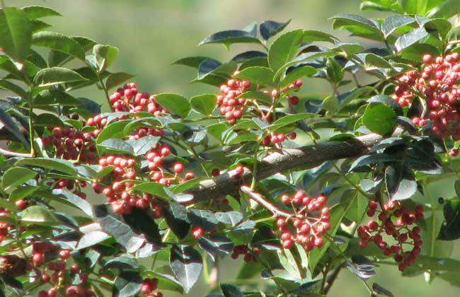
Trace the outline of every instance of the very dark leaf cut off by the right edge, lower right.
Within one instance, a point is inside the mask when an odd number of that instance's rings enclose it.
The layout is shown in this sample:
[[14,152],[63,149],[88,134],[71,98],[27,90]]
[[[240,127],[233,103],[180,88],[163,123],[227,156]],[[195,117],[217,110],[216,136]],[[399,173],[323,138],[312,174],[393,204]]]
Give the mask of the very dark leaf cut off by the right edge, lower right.
[[450,199],[444,204],[444,223],[437,239],[456,240],[460,238],[460,200]]

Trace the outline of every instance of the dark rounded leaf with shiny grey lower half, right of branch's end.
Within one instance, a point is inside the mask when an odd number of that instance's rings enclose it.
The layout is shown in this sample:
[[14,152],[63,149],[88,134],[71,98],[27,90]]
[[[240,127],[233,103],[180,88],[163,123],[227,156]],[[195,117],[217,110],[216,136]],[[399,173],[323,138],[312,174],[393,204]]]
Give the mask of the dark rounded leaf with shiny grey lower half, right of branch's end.
[[389,165],[385,170],[386,192],[393,200],[408,199],[417,191],[412,171],[402,164]]

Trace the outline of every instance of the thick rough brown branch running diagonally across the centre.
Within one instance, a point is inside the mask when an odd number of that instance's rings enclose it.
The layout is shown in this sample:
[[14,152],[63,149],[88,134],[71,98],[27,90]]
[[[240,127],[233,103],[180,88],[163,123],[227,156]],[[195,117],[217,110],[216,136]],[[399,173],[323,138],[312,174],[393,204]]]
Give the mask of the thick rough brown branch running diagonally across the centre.
[[[401,130],[397,129],[395,134],[399,133]],[[285,170],[314,168],[326,161],[356,158],[366,153],[369,146],[381,139],[382,136],[378,134],[369,134],[346,141],[328,141],[301,148],[285,148],[263,158],[258,165],[256,179],[262,180]],[[241,185],[251,181],[252,177],[251,171],[245,170],[238,178],[230,171],[215,177],[214,180],[206,180],[200,187],[187,191],[193,195],[192,201],[188,204],[225,197],[228,194],[237,195]]]

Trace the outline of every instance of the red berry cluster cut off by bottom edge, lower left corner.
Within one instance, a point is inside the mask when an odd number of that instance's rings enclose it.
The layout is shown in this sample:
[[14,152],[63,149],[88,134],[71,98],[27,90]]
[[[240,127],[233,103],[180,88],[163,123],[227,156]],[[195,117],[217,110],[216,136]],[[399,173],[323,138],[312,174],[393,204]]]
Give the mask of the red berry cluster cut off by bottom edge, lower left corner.
[[[52,243],[33,243],[30,262],[38,275],[35,281],[51,285],[47,291],[40,291],[39,297],[55,297],[58,291],[64,291],[66,296],[95,296],[88,284],[88,274],[80,269],[79,264],[74,263],[67,267],[70,256],[70,250],[60,249]],[[79,281],[76,282],[76,279]]]

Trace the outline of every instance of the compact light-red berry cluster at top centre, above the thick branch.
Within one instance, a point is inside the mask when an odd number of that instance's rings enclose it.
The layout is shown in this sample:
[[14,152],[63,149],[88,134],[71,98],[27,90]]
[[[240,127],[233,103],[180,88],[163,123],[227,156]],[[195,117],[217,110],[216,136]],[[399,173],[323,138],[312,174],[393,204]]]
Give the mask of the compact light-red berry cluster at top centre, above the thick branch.
[[[236,74],[238,71],[234,73],[234,75]],[[224,115],[229,124],[235,124],[236,120],[243,115],[246,99],[237,97],[250,86],[249,81],[241,81],[237,78],[230,78],[226,84],[220,86],[221,93],[217,95],[217,105],[220,107],[220,114]]]

